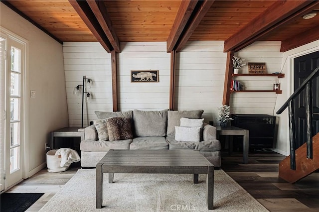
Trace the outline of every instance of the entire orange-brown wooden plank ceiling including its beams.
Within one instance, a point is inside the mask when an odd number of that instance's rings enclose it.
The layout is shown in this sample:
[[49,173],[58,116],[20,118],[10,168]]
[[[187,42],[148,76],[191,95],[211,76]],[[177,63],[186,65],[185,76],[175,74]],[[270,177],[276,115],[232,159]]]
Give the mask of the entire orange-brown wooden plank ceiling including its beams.
[[225,51],[254,41],[283,41],[282,51],[319,39],[319,1],[312,0],[9,0],[2,1],[57,40],[166,41],[167,51],[187,40],[224,40]]

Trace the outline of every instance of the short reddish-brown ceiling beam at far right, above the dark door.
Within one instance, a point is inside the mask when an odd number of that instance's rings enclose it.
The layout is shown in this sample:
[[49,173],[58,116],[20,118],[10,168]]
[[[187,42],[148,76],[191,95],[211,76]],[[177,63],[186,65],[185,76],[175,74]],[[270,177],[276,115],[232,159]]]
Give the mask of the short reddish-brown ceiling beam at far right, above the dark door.
[[319,26],[283,40],[280,52],[286,52],[316,40],[319,40]]

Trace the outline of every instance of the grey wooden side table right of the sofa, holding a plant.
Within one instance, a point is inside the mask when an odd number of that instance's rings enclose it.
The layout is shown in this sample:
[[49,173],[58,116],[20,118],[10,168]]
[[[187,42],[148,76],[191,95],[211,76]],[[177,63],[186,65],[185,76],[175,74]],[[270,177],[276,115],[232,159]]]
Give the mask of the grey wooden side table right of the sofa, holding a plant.
[[[243,159],[244,163],[248,163],[249,152],[249,130],[239,128],[236,126],[221,127],[220,125],[214,125],[217,128],[217,136],[219,135],[242,135],[243,136]],[[232,148],[232,140],[230,141],[230,150]]]

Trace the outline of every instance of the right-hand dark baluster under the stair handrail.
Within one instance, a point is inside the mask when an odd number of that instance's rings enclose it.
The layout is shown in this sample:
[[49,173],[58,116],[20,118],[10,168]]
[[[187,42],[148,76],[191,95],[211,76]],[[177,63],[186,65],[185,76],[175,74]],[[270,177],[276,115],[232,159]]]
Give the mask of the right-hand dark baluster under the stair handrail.
[[306,130],[307,130],[307,158],[313,159],[313,83],[309,81],[306,86]]

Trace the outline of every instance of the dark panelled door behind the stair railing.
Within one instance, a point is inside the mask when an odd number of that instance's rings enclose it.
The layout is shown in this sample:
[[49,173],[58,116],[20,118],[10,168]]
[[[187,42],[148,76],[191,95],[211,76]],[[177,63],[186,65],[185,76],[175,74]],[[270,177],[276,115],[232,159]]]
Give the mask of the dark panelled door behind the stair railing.
[[[294,67],[294,89],[295,91],[304,80],[319,66],[319,51],[295,58]],[[313,112],[314,112],[314,134],[319,132],[319,77],[313,80]],[[296,147],[306,142],[306,108],[305,91],[295,99],[295,120],[296,120]]]

